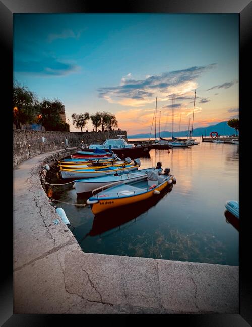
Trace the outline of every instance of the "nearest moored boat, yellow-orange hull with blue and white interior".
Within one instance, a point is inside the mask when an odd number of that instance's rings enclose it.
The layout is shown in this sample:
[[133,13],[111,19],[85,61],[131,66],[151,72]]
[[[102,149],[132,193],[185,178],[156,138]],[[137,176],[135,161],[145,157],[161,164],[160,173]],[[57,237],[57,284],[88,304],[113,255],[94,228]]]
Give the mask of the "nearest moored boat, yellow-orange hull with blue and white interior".
[[[120,184],[105,190],[105,187],[93,190],[93,196],[87,200],[87,204],[90,204],[92,212],[97,215],[108,209],[147,200],[176,181],[173,175],[160,174],[156,178],[150,179],[147,176],[142,181]],[[99,193],[95,195],[96,192]]]

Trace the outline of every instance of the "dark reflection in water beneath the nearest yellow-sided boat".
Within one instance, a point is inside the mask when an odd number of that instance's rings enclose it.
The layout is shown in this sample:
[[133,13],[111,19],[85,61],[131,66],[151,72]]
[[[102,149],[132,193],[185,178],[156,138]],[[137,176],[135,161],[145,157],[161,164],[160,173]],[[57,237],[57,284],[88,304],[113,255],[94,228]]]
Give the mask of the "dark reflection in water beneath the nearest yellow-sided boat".
[[148,199],[148,201],[141,201],[140,203],[134,203],[127,206],[122,206],[120,208],[106,210],[105,213],[94,216],[92,229],[84,238],[87,236],[101,235],[116,227],[118,227],[118,230],[120,230],[121,225],[124,225],[133,219],[136,221],[137,217],[148,211],[151,207],[155,206],[161,200],[161,198],[169,193],[172,190],[172,187],[172,184],[169,185],[169,187],[162,190],[160,194]]

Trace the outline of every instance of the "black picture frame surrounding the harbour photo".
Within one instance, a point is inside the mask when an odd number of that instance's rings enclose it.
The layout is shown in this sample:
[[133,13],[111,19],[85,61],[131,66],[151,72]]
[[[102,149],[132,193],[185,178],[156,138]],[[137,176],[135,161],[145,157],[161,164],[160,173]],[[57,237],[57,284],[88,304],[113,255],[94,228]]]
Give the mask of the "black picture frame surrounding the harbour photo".
[[[99,10],[97,10],[99,8]],[[244,144],[249,137],[245,122],[249,107],[248,99],[251,94],[251,84],[247,83],[246,75],[251,60],[251,17],[252,3],[250,0],[141,0],[123,1],[117,4],[101,2],[96,4],[90,0],[1,0],[1,41],[3,56],[2,79],[3,94],[6,108],[12,107],[12,19],[14,13],[238,13],[240,15],[240,181],[245,170],[248,170]],[[251,104],[250,104],[251,107]],[[12,120],[10,119],[10,124]],[[11,129],[10,129],[11,130]],[[10,131],[8,129],[7,135]],[[8,136],[10,140],[11,136]],[[243,152],[244,151],[244,152]],[[243,154],[244,153],[244,154]],[[244,161],[243,161],[244,160]],[[242,173],[243,172],[243,173]],[[12,174],[12,173],[10,173]],[[244,176],[244,175],[243,175]],[[251,175],[250,175],[251,176]],[[241,184],[240,184],[241,189]],[[240,197],[241,217],[250,217],[245,213],[246,203],[249,203],[248,195],[242,193]],[[251,301],[251,273],[249,270],[249,219],[240,220],[240,314],[238,315],[169,315],[176,323],[185,320],[186,325],[192,326],[248,326],[252,324],[252,301]],[[7,227],[8,241],[5,241],[3,261],[5,263],[4,276],[1,280],[1,313],[0,322],[4,326],[45,326],[59,322],[58,315],[14,315],[12,314],[12,225]],[[73,319],[73,316],[64,316],[64,320]],[[81,319],[76,315],[75,319]],[[70,320],[69,320],[70,321]],[[85,320],[84,320],[85,321]]]

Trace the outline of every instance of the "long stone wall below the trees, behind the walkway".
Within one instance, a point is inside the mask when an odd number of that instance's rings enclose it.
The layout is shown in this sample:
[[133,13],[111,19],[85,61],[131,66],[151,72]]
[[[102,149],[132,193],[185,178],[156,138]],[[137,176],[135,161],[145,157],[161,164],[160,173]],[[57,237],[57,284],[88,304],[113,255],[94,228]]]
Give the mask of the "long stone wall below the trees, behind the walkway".
[[124,135],[124,139],[127,140],[127,132],[120,130],[81,133],[13,129],[13,167],[41,153],[81,146],[81,144],[103,143],[108,138],[118,138],[118,135]]

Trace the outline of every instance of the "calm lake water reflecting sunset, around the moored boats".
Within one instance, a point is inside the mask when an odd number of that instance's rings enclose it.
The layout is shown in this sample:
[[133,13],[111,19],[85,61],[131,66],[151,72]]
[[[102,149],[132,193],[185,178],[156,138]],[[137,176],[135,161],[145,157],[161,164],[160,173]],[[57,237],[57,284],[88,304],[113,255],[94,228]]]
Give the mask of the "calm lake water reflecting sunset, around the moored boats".
[[[239,265],[239,232],[224,214],[227,200],[239,201],[239,145],[203,142],[169,152],[152,149],[150,158],[141,158],[140,169],[161,161],[177,179],[147,203],[100,217],[89,206],[54,204],[65,210],[85,252]],[[77,198],[72,184],[51,187],[48,196],[79,204],[87,199]]]

